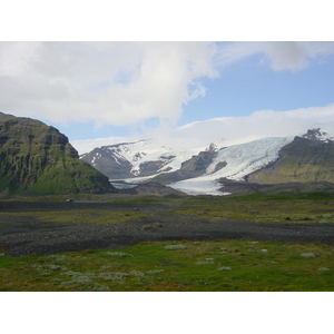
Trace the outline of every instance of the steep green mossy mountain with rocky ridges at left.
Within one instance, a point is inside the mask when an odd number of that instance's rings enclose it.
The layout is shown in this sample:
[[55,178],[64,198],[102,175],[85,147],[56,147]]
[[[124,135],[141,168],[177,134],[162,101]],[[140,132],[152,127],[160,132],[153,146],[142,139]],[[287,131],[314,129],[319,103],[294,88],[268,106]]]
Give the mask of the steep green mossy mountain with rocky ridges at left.
[[114,193],[68,138],[41,121],[0,112],[0,194]]

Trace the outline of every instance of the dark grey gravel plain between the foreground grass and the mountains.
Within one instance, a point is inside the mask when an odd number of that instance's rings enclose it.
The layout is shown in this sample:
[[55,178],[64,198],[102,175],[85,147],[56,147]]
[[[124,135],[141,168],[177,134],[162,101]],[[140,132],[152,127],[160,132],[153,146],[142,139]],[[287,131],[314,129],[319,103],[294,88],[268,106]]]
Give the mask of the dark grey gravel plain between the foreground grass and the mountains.
[[[166,215],[164,204],[114,203],[0,203],[0,247],[4,255],[49,255],[81,249],[120,249],[155,240],[253,239],[334,244],[334,224],[252,223],[209,220],[188,215]],[[41,210],[140,210],[149,217],[119,224],[42,222],[24,213]],[[20,215],[10,215],[20,213]]]

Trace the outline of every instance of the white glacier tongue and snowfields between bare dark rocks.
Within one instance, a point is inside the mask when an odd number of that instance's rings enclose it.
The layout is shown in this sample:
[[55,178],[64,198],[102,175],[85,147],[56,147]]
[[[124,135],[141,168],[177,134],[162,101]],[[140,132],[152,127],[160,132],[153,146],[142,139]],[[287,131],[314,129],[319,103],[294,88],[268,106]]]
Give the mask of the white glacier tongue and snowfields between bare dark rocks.
[[[243,180],[246,175],[261,169],[272,161],[275,161],[278,158],[281,148],[292,143],[294,136],[254,138],[256,137],[217,141],[215,144],[217,147],[217,155],[207,167],[204,175],[176,181],[168,186],[188,195],[229,195],[229,193],[224,191],[224,185],[218,181],[220,178]],[[139,156],[138,153],[140,151],[140,148],[144,148],[144,146],[146,148],[145,154]],[[180,168],[183,161],[191,158],[191,156],[197,155],[199,151],[204,151],[205,149],[208,149],[208,146],[191,149],[183,148],[181,150],[178,150],[176,147],[157,146],[154,140],[147,140],[146,143],[143,140],[127,146],[126,150],[121,150],[121,157],[129,159],[134,166],[132,170],[136,171],[141,163],[161,159],[161,157],[168,154],[170,156],[175,156],[175,158],[164,165],[164,167],[168,165],[171,167],[170,171],[174,171]],[[134,159],[134,156],[140,158]],[[218,164],[222,164],[222,161],[225,163],[225,167],[217,168],[217,166],[219,166]],[[122,181],[132,185],[141,184],[148,181],[163,171],[158,170],[158,173],[153,176],[128,178]]]

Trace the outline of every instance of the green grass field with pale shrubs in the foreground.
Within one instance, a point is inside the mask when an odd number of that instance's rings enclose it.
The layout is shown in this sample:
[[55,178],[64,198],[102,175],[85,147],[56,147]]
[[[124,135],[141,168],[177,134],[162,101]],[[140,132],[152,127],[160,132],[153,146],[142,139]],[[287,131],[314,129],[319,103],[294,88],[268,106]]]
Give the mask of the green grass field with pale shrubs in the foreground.
[[0,256],[0,264],[1,291],[334,289],[333,246],[323,244],[144,243],[121,250]]

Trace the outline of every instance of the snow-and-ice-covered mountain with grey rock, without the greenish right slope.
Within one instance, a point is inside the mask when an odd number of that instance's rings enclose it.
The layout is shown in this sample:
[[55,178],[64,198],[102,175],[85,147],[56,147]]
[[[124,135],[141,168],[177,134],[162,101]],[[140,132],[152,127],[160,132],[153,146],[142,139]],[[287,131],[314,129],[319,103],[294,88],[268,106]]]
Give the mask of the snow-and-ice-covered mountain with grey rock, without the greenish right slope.
[[[321,129],[296,135],[306,141],[333,140]],[[146,139],[98,147],[81,159],[107,175],[116,187],[155,180],[189,195],[225,195],[222,179],[246,180],[277,161],[294,138],[247,136],[214,143],[197,140],[193,146],[190,140]]]

